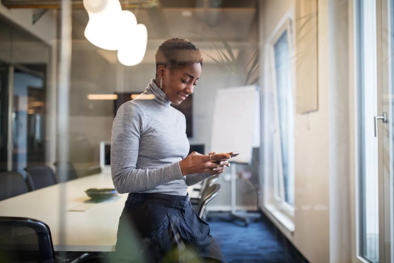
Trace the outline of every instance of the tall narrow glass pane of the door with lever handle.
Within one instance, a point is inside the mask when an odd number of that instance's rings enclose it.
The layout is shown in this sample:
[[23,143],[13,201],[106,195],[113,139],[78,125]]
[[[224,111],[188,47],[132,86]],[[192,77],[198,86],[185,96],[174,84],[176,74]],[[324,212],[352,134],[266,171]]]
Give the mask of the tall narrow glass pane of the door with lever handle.
[[379,261],[379,182],[377,140],[371,122],[377,113],[376,4],[355,1],[357,10],[357,256]]

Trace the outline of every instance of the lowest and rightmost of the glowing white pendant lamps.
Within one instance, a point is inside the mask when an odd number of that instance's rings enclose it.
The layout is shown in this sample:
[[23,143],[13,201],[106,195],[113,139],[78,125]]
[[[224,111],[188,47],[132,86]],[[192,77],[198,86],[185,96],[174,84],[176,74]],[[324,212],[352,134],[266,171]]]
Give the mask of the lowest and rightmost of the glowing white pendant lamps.
[[125,66],[134,66],[142,62],[148,43],[148,31],[144,24],[138,24],[127,32],[118,50],[118,60]]

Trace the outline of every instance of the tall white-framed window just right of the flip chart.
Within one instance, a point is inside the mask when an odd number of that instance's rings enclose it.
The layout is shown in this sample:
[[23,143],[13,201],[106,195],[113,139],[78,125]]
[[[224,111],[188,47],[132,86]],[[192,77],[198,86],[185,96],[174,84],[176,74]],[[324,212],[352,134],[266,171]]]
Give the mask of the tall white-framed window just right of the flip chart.
[[268,160],[272,165],[269,205],[286,215],[294,216],[294,83],[292,66],[292,30],[290,18],[283,19],[278,30],[269,37],[266,56],[269,60],[268,97],[270,131],[268,140],[273,158]]

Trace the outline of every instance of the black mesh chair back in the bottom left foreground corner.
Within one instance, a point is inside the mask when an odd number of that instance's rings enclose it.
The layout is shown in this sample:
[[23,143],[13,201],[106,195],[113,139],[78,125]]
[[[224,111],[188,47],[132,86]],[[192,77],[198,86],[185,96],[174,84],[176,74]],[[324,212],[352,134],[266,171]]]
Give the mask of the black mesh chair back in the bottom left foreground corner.
[[0,262],[54,263],[49,227],[31,218],[0,216]]

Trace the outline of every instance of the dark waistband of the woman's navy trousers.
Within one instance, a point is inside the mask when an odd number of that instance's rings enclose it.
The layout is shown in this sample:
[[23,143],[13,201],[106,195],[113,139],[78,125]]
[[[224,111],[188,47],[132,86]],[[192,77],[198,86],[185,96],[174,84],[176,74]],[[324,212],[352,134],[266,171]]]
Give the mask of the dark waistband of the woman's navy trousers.
[[175,196],[172,194],[160,193],[129,193],[127,201],[132,203],[132,206],[138,206],[148,201],[160,205],[169,205],[173,207],[186,207],[189,205],[189,194],[186,196]]

